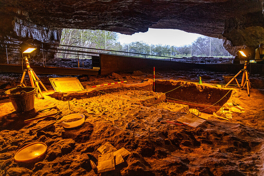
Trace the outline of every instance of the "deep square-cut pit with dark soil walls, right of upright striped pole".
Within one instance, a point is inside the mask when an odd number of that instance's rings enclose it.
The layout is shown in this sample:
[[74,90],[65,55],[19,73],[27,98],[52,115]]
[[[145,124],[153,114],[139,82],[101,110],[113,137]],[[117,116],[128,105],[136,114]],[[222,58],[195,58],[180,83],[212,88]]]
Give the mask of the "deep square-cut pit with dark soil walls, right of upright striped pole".
[[[185,81],[172,81],[172,80],[155,81],[156,92],[164,93],[170,91],[166,93],[166,98],[168,99],[169,102],[189,105],[190,108],[200,108],[201,111],[205,108],[208,108],[209,105],[215,104],[217,101],[219,101],[221,98],[224,97],[214,106],[211,106],[210,108],[202,111],[206,113],[212,113],[213,111],[218,111],[220,107],[216,107],[216,106],[223,106],[224,103],[226,103],[227,100],[230,98],[232,91],[230,91],[227,94],[229,90],[230,89],[218,88],[211,85],[197,84],[197,83],[185,82]],[[188,103],[186,101],[192,103]]]

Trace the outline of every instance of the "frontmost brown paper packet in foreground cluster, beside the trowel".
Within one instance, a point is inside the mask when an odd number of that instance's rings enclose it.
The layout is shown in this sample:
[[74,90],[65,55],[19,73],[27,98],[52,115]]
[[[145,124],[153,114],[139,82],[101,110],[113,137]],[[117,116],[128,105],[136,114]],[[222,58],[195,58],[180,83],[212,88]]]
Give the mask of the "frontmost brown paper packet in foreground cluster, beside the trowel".
[[98,174],[115,170],[114,152],[99,155],[97,169]]

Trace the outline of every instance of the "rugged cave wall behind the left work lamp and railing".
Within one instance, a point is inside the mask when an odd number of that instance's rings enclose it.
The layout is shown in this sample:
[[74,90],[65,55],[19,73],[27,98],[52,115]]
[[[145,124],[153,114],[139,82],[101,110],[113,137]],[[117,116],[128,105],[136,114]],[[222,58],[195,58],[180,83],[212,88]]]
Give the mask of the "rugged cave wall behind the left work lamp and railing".
[[[22,12],[21,12],[22,13]],[[22,15],[12,16],[12,15],[0,15],[2,20],[0,21],[0,42],[10,43],[10,44],[20,44],[20,41],[10,41],[5,39],[16,39],[22,41],[34,41],[34,42],[43,42],[44,47],[45,43],[59,44],[62,28],[37,25],[34,22],[30,21],[29,18],[25,18],[28,15],[23,13]],[[22,19],[19,16],[23,16]],[[41,46],[41,44],[34,44],[35,46]],[[22,61],[20,50],[17,47],[0,45],[0,63],[7,63],[7,54],[8,54],[8,63],[20,64]],[[7,51],[6,48],[7,47]],[[49,45],[50,47],[50,45]],[[51,46],[53,47],[53,46]],[[56,47],[56,46],[54,46]],[[54,53],[45,53],[46,59],[54,58]],[[30,62],[42,61],[43,53],[39,48],[30,54]]]

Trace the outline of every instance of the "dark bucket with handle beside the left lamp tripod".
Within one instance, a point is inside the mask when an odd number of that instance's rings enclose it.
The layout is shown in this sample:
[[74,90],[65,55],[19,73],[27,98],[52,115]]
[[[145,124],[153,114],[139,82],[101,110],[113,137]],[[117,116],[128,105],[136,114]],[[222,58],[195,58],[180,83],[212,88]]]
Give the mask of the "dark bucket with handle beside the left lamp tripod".
[[15,110],[21,113],[34,109],[34,94],[36,89],[35,87],[17,86],[4,93],[8,95]]

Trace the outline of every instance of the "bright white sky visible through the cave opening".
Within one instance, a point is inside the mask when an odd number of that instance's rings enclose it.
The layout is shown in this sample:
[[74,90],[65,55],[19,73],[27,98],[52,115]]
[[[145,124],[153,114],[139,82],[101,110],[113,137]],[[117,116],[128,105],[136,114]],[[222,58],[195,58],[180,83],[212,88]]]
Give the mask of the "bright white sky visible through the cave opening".
[[200,34],[187,33],[178,29],[151,29],[145,33],[135,33],[133,35],[125,35],[117,33],[121,44],[131,43],[135,41],[144,41],[148,44],[162,44],[181,46],[188,45],[195,41]]

